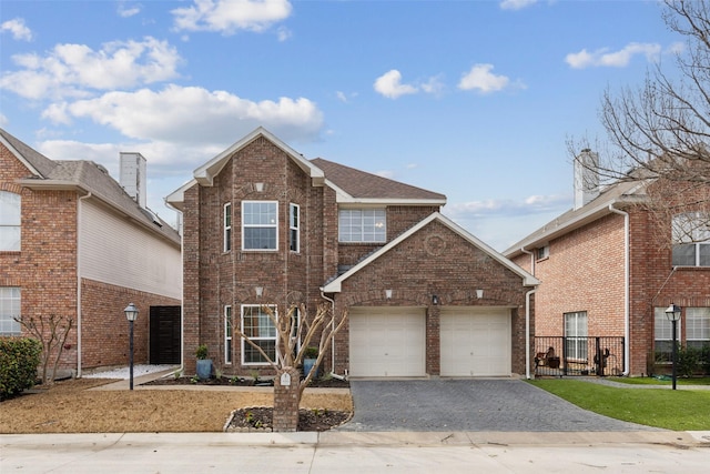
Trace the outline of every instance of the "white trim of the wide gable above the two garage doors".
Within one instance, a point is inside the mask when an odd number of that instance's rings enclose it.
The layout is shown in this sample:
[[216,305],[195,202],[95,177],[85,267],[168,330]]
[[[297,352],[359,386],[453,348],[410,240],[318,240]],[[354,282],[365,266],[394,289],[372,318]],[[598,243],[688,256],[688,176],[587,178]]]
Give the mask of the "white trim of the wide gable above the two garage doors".
[[402,242],[404,242],[410,235],[415,234],[416,232],[418,232],[419,230],[424,229],[426,225],[428,225],[429,223],[432,223],[434,221],[439,222],[443,225],[447,226],[453,232],[455,232],[456,234],[458,234],[462,238],[464,238],[464,240],[466,240],[469,244],[478,248],[484,253],[486,253],[488,256],[490,256],[496,262],[501,264],[504,268],[510,270],[513,273],[515,273],[518,276],[520,276],[523,279],[523,285],[524,286],[536,286],[536,285],[538,285],[540,283],[539,280],[537,280],[530,273],[526,272],[520,266],[516,265],[510,260],[506,259],[500,253],[496,252],[493,248],[488,246],[486,243],[484,243],[483,241],[478,240],[476,236],[474,236],[471,233],[469,233],[468,231],[466,231],[465,229],[463,229],[462,226],[456,224],[454,221],[449,220],[448,218],[446,218],[445,215],[443,215],[439,212],[434,212],[434,213],[429,214],[426,219],[422,220],[416,225],[414,225],[413,228],[410,228],[409,230],[404,232],[402,235],[397,236],[396,239],[392,240],[390,242],[388,242],[386,245],[384,245],[379,250],[377,250],[377,251],[373,252],[372,254],[369,254],[369,256],[367,256],[365,260],[363,260],[362,262],[359,262],[358,264],[356,264],[355,266],[349,269],[347,272],[345,272],[342,275],[337,276],[333,281],[326,283],[322,288],[323,292],[324,293],[339,293],[342,291],[342,284],[343,284],[343,282],[345,280],[349,279],[351,276],[353,276],[354,274],[356,274],[361,270],[365,269],[367,265],[369,265],[371,263],[373,263],[374,261],[376,261],[381,256],[385,255],[387,252],[389,252],[390,250],[393,250],[394,248],[399,245]]

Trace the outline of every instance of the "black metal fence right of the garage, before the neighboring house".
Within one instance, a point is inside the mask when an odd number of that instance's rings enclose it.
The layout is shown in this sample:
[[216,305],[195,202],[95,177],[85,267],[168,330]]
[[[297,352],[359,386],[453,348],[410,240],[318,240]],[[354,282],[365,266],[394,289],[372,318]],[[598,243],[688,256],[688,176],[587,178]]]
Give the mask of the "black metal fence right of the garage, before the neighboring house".
[[535,375],[621,375],[623,337],[536,336]]

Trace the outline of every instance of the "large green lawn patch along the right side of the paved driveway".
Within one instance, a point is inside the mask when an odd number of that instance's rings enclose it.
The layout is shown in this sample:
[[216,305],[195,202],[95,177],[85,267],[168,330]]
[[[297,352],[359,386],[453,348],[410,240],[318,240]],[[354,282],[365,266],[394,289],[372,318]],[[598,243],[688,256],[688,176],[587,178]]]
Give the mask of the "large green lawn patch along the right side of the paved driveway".
[[529,383],[612,418],[673,431],[710,430],[710,390],[617,389],[569,379]]

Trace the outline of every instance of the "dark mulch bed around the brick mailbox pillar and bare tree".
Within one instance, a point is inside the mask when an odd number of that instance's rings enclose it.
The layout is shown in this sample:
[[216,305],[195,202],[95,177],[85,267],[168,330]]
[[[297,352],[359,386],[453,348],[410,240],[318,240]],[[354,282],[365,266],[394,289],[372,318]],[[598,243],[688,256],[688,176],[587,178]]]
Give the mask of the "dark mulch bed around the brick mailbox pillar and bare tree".
[[[235,410],[224,427],[226,432],[271,432],[274,409],[254,406]],[[349,420],[351,412],[332,410],[298,410],[296,431],[328,431]]]

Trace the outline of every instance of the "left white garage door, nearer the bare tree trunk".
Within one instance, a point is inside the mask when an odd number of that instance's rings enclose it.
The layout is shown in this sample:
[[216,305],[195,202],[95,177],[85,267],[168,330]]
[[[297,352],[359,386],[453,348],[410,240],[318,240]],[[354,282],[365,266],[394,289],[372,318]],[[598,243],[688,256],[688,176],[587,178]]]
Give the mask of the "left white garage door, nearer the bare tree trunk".
[[418,307],[351,307],[352,376],[423,376],[425,310]]

